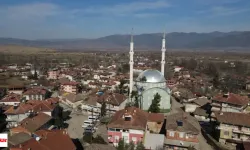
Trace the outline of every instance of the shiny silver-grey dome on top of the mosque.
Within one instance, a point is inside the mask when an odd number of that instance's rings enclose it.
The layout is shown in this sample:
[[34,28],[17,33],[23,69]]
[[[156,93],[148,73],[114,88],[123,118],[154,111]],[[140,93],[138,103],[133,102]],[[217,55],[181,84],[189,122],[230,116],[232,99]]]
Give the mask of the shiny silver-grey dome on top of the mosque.
[[149,83],[159,83],[159,82],[166,81],[162,73],[158,70],[151,70],[151,69],[145,70],[142,73],[140,73],[136,81],[141,81],[143,77],[145,77],[146,82],[149,82]]

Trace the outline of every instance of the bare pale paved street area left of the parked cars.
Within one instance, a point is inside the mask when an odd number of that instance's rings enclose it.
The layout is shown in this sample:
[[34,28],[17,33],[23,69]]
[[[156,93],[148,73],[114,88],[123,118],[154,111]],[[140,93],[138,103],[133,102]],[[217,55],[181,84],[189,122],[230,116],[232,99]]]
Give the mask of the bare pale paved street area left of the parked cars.
[[85,120],[87,120],[87,115],[77,115],[77,114],[71,114],[71,119],[66,121],[68,126],[68,134],[71,138],[79,138],[81,139],[83,136],[84,129],[82,128],[82,124]]

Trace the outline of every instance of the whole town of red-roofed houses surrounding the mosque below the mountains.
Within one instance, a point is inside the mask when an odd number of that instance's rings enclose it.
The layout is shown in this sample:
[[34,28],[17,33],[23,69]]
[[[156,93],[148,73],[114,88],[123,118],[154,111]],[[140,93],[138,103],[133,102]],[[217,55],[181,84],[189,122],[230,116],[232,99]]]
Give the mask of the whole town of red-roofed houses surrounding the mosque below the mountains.
[[133,36],[127,52],[2,53],[9,149],[249,150],[248,54],[165,42],[154,53]]

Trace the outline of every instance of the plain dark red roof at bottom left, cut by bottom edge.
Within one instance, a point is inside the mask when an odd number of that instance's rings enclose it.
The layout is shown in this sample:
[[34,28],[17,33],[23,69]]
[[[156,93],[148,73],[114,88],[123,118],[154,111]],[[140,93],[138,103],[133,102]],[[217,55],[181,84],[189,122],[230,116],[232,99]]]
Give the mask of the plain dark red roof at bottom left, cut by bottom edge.
[[10,150],[76,150],[66,130],[39,130],[32,138]]

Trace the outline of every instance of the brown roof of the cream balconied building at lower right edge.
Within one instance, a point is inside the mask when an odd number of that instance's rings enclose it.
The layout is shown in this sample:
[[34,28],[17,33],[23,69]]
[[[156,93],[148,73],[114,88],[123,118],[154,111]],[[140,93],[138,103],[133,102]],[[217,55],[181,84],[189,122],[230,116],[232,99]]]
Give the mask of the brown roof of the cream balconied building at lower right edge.
[[[250,127],[250,114],[235,112],[214,112],[218,122]],[[233,119],[232,119],[233,118]]]

